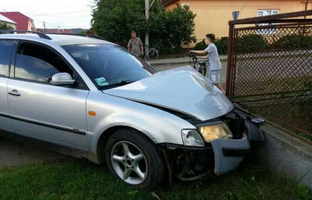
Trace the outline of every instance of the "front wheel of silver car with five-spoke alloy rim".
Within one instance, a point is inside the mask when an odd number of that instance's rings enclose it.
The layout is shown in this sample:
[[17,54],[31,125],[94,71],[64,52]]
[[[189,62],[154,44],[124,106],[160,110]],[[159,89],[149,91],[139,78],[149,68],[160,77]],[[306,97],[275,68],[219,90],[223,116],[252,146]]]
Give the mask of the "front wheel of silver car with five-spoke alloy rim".
[[153,189],[165,175],[163,155],[136,129],[119,129],[108,139],[106,163],[114,176],[134,188]]

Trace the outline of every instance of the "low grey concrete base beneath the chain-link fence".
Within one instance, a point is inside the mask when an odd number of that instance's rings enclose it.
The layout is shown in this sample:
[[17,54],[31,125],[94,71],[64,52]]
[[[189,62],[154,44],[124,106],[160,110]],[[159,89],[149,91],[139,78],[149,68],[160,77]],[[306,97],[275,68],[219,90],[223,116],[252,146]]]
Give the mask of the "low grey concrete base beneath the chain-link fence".
[[251,156],[268,164],[275,173],[282,170],[312,191],[312,145],[269,124],[261,125],[265,141],[255,143]]

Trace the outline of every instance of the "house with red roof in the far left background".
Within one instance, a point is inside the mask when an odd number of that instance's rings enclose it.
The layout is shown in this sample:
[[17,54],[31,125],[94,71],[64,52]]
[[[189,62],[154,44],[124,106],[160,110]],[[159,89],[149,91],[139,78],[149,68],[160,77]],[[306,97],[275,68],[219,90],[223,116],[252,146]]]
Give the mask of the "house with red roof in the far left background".
[[34,20],[29,18],[20,12],[0,12],[0,15],[11,19],[16,22],[16,30],[19,31],[37,31]]

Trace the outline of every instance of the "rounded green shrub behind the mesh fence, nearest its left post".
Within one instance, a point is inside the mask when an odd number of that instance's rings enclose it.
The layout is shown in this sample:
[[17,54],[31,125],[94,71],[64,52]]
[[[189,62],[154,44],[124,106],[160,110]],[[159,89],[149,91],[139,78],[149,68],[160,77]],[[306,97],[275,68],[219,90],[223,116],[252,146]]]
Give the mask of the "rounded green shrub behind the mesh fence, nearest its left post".
[[268,41],[257,34],[249,34],[236,38],[235,50],[236,53],[255,53],[267,49]]

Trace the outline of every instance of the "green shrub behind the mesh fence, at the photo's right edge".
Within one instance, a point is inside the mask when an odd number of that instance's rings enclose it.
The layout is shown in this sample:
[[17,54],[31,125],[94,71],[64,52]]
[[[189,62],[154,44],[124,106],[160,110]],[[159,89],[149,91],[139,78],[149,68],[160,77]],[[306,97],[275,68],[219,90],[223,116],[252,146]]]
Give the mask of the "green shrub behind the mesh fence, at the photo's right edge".
[[296,34],[283,36],[274,42],[274,47],[278,49],[311,49],[312,36]]

